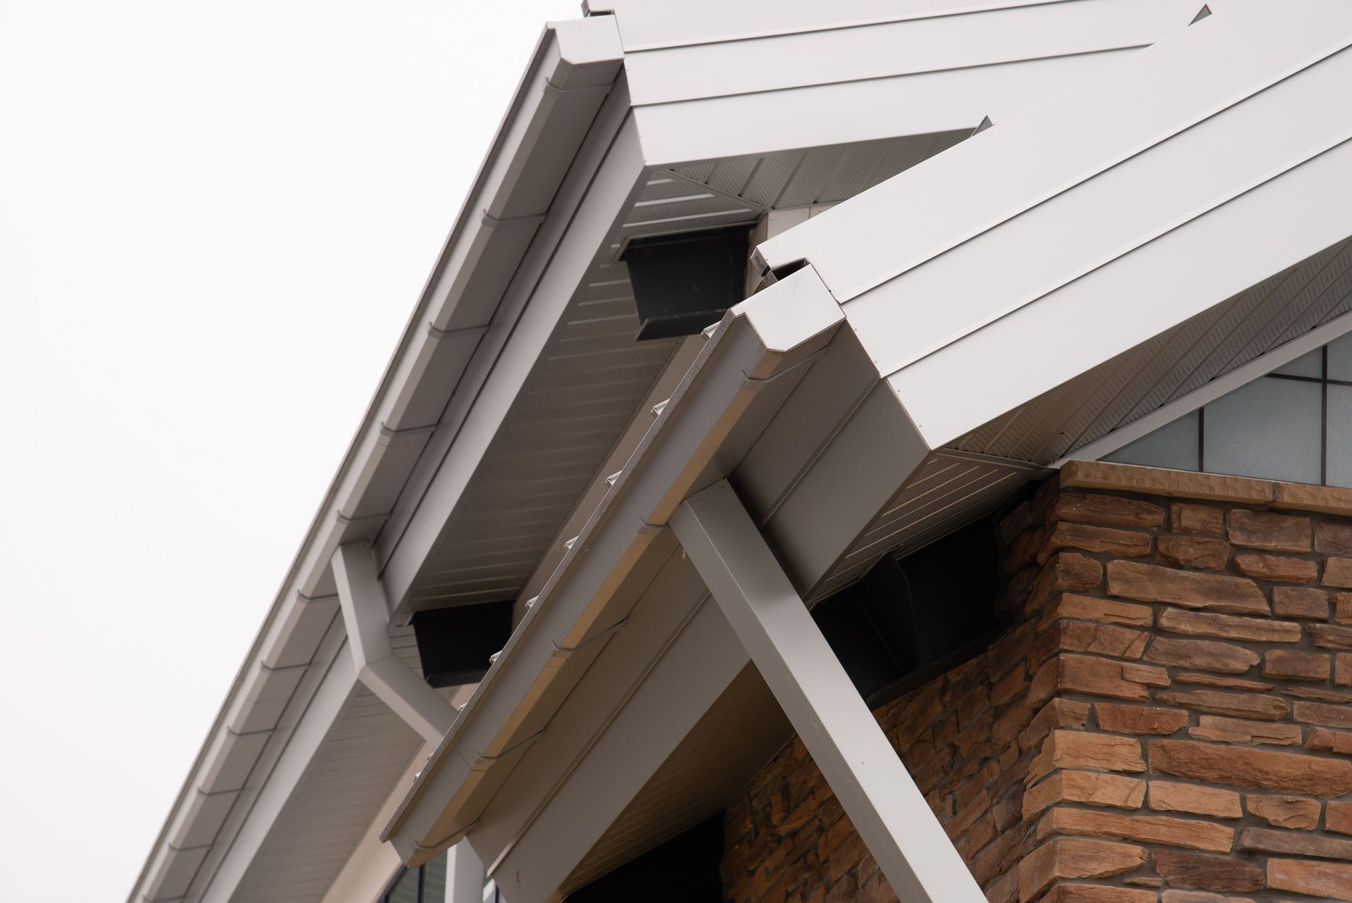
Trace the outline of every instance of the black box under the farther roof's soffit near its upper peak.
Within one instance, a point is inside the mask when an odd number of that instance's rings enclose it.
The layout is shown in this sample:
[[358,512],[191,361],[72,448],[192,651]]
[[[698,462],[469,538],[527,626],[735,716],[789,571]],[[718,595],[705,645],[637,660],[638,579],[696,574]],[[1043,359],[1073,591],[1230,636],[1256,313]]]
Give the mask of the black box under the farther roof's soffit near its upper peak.
[[625,249],[637,341],[694,335],[742,300],[748,227],[635,238]]

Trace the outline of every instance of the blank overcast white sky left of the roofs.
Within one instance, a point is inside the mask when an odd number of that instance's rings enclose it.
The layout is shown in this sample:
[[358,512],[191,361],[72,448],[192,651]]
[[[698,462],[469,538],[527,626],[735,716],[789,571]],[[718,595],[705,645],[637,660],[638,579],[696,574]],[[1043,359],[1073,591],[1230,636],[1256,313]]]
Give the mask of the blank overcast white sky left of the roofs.
[[0,0],[5,899],[130,892],[544,22],[577,15]]

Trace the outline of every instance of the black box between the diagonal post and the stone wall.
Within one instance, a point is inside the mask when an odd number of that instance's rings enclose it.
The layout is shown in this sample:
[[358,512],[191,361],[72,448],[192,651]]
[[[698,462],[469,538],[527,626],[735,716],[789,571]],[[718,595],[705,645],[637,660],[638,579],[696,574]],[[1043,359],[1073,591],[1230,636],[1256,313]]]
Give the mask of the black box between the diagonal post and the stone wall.
[[884,556],[813,618],[876,707],[982,652],[1000,629],[995,531],[973,523],[898,560]]

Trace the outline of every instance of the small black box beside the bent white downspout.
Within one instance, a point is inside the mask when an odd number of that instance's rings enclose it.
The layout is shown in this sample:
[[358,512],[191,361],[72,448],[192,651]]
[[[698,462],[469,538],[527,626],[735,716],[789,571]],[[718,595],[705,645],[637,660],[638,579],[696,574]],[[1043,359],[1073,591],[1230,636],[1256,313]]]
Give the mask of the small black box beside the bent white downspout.
[[414,614],[423,677],[433,687],[472,684],[488,672],[488,657],[511,637],[511,600],[430,608]]

